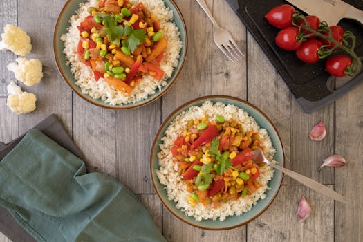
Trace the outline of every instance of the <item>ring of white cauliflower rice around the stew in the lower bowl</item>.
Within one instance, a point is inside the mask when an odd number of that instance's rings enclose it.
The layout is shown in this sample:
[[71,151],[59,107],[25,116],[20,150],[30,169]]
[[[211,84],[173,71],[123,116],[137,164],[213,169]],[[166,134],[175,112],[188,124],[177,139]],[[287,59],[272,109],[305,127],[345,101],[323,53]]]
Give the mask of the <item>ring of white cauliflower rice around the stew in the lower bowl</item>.
[[183,134],[183,131],[187,127],[189,120],[196,118],[207,117],[208,120],[214,120],[216,115],[223,115],[225,120],[234,119],[240,124],[244,130],[259,131],[259,136],[262,144],[266,147],[263,151],[264,155],[268,160],[273,160],[274,153],[276,153],[268,132],[266,129],[261,129],[259,124],[250,117],[246,111],[239,109],[234,105],[225,105],[221,102],[213,104],[210,101],[205,102],[202,106],[192,106],[187,111],[180,113],[173,122],[169,125],[165,131],[165,136],[162,138],[163,144],[160,144],[161,151],[158,153],[158,160],[160,169],[156,170],[156,174],[162,185],[165,185],[167,190],[167,198],[176,202],[176,207],[187,216],[193,216],[196,221],[202,219],[216,220],[219,218],[220,221],[225,220],[227,216],[234,214],[241,215],[244,212],[248,212],[252,209],[253,205],[257,204],[257,201],[261,198],[266,198],[264,192],[268,187],[268,181],[274,176],[274,169],[268,165],[260,167],[260,176],[257,179],[261,184],[261,187],[257,189],[252,195],[247,195],[244,198],[239,198],[234,201],[228,201],[227,203],[221,203],[221,206],[216,209],[212,209],[209,206],[203,206],[198,203],[192,206],[187,200],[190,196],[189,192],[186,191],[186,185],[181,182],[182,176],[178,174],[178,162],[174,162],[174,157],[171,154],[171,147],[174,145],[174,140]]

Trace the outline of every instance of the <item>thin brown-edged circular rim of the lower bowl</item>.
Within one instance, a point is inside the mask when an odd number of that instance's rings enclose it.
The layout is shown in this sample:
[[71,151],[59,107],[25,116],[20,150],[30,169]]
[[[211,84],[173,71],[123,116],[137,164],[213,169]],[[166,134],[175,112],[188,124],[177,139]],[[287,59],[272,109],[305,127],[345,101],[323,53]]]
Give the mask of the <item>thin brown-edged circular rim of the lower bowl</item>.
[[[174,213],[173,210],[171,210],[171,207],[169,207],[163,200],[160,192],[158,191],[158,189],[156,189],[156,178],[153,177],[153,167],[152,167],[152,162],[153,162],[153,153],[154,153],[154,149],[155,149],[155,146],[156,146],[156,142],[158,140],[158,137],[160,136],[160,133],[162,131],[162,129],[165,127],[165,125],[167,124],[167,122],[169,122],[171,120],[171,118],[173,118],[174,115],[176,115],[177,113],[179,113],[182,109],[184,109],[186,106],[189,106],[190,104],[193,104],[195,102],[199,102],[199,101],[203,101],[203,100],[210,100],[210,99],[215,99],[215,98],[224,98],[224,99],[228,99],[228,100],[234,100],[234,101],[237,101],[237,102],[242,102],[243,104],[246,104],[250,107],[252,107],[252,109],[254,109],[255,111],[257,111],[258,113],[260,113],[263,118],[266,118],[266,120],[271,124],[272,126],[272,129],[274,129],[274,132],[277,134],[277,138],[279,139],[279,142],[281,144],[281,151],[282,151],[282,167],[284,167],[285,165],[285,152],[283,151],[283,145],[282,145],[282,140],[281,140],[281,137],[279,135],[279,133],[277,132],[277,129],[276,127],[274,126],[273,122],[270,120],[270,118],[268,118],[268,116],[263,113],[263,111],[261,111],[261,109],[257,108],[257,106],[254,106],[253,104],[250,104],[249,102],[245,101],[245,100],[242,100],[238,97],[232,97],[232,96],[229,96],[229,95],[207,95],[207,96],[203,96],[203,97],[198,97],[194,100],[191,100],[189,102],[186,102],[185,104],[182,104],[181,106],[179,106],[177,109],[175,109],[173,112],[171,112],[167,118],[164,120],[164,122],[162,122],[162,124],[160,125],[160,128],[158,129],[158,132],[156,133],[155,135],[155,138],[153,140],[153,144],[151,146],[151,152],[150,152],[150,176],[151,176],[151,180],[153,181],[153,188],[155,189],[156,191],[156,194],[158,194],[158,197],[160,198],[160,201],[162,202],[162,205],[164,205],[165,207],[167,207],[167,210],[169,210],[169,212],[171,212],[171,214],[173,214],[174,216],[176,216],[176,218],[179,218],[181,221],[189,224],[189,225],[192,225],[194,227],[198,227],[198,228],[201,228],[203,230],[230,230],[230,229],[233,229],[233,228],[236,228],[236,227],[240,227],[242,225],[245,225],[247,223],[250,223],[250,221],[253,221],[254,219],[256,219],[258,216],[260,216],[261,214],[263,214],[263,212],[265,212],[268,207],[270,207],[271,203],[274,201],[274,198],[276,198],[277,194],[279,193],[279,190],[281,188],[281,185],[282,185],[282,180],[283,180],[283,172],[281,172],[281,178],[279,179],[279,184],[278,184],[278,187],[277,187],[277,190],[276,192],[272,195],[272,198],[270,199],[270,201],[265,205],[265,207],[263,207],[261,209],[261,211],[259,211],[256,215],[254,215],[252,218],[248,219],[247,221],[244,221],[242,223],[238,223],[236,225],[232,225],[232,226],[228,226],[228,227],[205,227],[203,225],[197,225],[197,224],[194,224],[194,223],[190,223],[189,221],[185,220],[183,217],[179,216],[178,214]],[[250,113],[249,113],[250,115]],[[234,215],[235,216],[235,215]]]

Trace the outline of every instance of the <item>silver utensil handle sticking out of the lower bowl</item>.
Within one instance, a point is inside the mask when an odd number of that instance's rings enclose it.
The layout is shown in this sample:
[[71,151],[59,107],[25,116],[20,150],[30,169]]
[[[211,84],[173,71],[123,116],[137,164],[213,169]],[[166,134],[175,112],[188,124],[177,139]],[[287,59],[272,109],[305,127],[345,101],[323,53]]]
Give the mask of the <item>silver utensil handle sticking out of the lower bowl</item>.
[[279,171],[282,171],[284,174],[297,180],[299,183],[306,185],[306,187],[310,187],[311,189],[315,190],[316,192],[319,192],[319,194],[323,194],[325,196],[333,198],[334,200],[339,201],[340,203],[348,203],[348,201],[346,200],[346,198],[344,198],[344,196],[338,194],[333,189],[330,189],[329,187],[322,185],[321,183],[317,183],[313,179],[310,179],[306,176],[297,174],[296,172],[290,171],[289,169],[286,169],[285,167],[280,167],[279,165],[275,165],[272,162],[268,162],[268,165],[274,167],[275,169],[278,169]]

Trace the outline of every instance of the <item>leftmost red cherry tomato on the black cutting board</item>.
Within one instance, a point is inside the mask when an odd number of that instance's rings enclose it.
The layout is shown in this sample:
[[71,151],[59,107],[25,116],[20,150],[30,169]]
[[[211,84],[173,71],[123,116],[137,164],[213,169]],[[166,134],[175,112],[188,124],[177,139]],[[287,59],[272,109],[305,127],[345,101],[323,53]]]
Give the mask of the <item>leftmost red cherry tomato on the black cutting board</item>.
[[294,11],[294,7],[283,4],[272,8],[265,17],[271,25],[277,28],[286,28],[292,26],[292,14]]

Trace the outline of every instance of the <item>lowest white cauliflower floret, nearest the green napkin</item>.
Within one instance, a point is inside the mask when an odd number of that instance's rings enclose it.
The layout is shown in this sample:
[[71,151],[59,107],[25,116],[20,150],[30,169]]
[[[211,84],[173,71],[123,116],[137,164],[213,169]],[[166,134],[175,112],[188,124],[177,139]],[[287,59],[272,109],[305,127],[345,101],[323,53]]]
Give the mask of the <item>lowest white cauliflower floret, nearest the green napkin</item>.
[[34,94],[21,91],[15,82],[8,85],[7,105],[14,113],[24,114],[34,111],[35,101],[37,97]]

